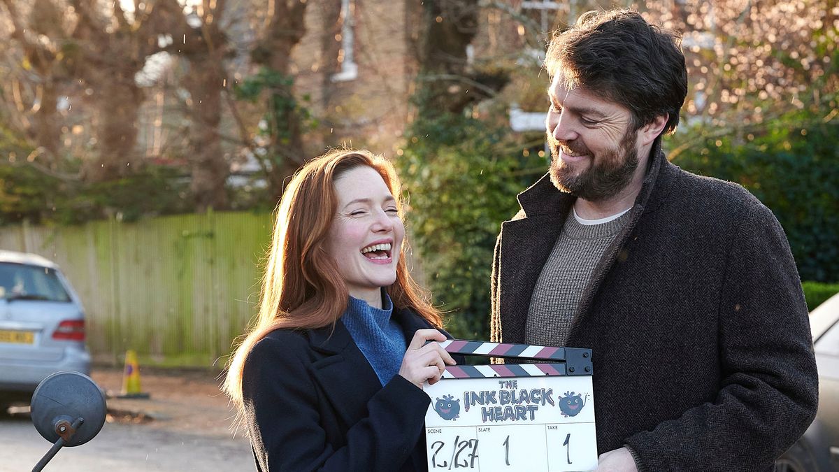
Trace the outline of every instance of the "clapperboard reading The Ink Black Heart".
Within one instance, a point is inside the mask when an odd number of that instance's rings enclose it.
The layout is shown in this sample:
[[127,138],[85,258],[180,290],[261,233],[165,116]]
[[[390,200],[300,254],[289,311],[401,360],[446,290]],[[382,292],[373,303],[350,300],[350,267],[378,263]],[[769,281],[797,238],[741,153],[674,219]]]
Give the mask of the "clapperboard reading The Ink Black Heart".
[[429,470],[577,472],[597,467],[591,349],[450,339],[451,354],[545,363],[447,366],[425,384]]

